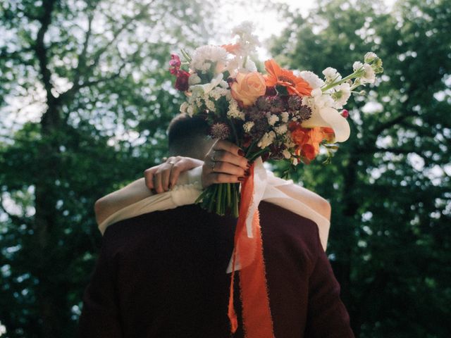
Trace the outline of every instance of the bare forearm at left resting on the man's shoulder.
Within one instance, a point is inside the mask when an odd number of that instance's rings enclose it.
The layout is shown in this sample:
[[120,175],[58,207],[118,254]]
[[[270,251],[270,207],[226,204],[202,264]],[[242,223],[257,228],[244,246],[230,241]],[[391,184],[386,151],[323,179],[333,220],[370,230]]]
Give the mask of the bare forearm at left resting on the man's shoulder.
[[116,192],[111,192],[111,194],[101,197],[94,204],[97,224],[101,224],[109,215],[116,213],[116,211],[149,196],[152,196],[152,192],[146,187],[144,178],[140,178],[122,189],[116,190]]

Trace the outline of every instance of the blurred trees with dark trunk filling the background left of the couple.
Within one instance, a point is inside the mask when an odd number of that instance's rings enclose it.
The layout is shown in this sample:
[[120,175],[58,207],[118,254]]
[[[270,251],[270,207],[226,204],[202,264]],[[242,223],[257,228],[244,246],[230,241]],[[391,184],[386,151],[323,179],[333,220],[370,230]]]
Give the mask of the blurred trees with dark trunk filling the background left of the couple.
[[73,337],[99,244],[94,201],[163,156],[179,103],[168,56],[206,42],[212,6],[1,5],[0,320],[8,337]]

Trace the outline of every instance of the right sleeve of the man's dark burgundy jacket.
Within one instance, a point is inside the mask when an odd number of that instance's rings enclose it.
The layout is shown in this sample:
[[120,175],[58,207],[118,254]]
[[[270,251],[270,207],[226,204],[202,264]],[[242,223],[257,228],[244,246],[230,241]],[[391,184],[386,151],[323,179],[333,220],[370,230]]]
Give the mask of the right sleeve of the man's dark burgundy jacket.
[[318,258],[309,279],[306,338],[354,338],[350,317],[340,299],[340,284],[319,244]]

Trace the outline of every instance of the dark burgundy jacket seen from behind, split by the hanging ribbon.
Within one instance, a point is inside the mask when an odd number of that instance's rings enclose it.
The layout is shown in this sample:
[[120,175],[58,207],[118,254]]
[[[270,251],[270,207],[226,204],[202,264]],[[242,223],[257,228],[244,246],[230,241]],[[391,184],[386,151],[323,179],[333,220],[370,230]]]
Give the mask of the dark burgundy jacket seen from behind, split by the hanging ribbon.
[[[354,337],[316,224],[266,202],[259,210],[276,338]],[[226,269],[235,224],[191,205],[108,227],[79,336],[230,337]],[[235,308],[240,318],[239,295]],[[243,337],[239,325],[233,337]]]

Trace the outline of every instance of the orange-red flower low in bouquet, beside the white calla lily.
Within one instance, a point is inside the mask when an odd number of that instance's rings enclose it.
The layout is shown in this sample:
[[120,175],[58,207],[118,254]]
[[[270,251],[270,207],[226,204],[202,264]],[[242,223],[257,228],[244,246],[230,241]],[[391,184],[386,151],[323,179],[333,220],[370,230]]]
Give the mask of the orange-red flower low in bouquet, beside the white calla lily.
[[321,144],[323,139],[327,139],[328,136],[323,131],[322,127],[298,127],[295,130],[292,130],[291,137],[293,142],[299,147],[297,149],[297,154],[307,158],[308,161],[311,161],[319,153],[319,144]]

